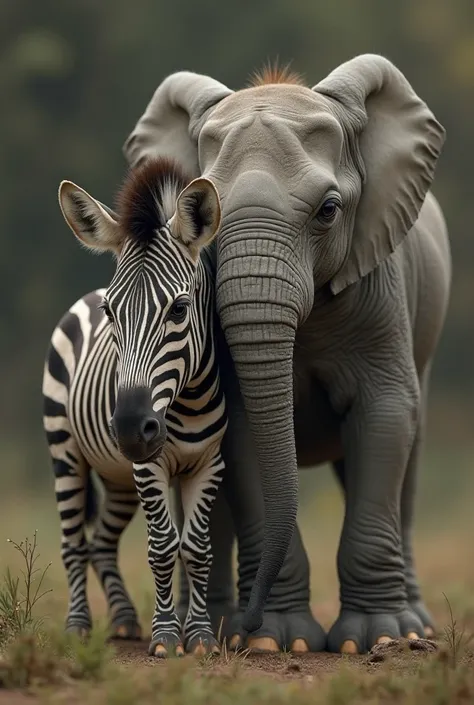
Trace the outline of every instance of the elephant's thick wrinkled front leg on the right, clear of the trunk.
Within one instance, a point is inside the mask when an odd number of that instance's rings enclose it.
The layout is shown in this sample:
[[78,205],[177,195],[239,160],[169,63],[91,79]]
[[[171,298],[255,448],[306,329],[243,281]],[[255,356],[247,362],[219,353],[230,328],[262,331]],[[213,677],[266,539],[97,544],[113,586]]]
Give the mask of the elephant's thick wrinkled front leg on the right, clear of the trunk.
[[[416,387],[418,385],[416,384]],[[402,486],[416,435],[417,389],[380,390],[343,425],[346,512],[338,551],[341,612],[331,651],[358,653],[400,636],[421,636],[410,608],[400,531]]]

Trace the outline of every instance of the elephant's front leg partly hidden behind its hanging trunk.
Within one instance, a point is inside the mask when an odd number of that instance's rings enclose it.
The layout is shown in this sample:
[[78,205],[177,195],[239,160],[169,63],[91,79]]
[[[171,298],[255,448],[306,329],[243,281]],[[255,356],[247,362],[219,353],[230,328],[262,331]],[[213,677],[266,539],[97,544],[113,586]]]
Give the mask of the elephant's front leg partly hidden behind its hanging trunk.
[[[265,512],[253,438],[237,378],[228,358],[221,359],[220,364],[229,414],[222,447],[226,464],[223,490],[232,511],[238,542],[238,607],[227,630],[230,645],[264,651],[323,651],[326,635],[311,613],[309,563],[297,526],[265,606],[262,627],[249,637],[242,630],[241,620],[263,545]],[[229,519],[220,516],[219,530],[225,531]],[[217,557],[215,549],[214,555]]]

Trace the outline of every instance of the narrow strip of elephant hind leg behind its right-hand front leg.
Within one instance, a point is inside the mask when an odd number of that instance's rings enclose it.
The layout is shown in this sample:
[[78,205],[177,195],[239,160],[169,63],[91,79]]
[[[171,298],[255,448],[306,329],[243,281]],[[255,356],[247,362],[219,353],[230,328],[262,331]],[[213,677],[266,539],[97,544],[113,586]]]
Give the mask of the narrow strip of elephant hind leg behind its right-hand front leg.
[[410,606],[415,614],[417,614],[421,619],[424,626],[425,636],[432,638],[435,633],[434,622],[421,598],[421,591],[418,584],[418,579],[416,577],[413,559],[413,516],[415,509],[418,466],[425,432],[429,372],[429,369],[425,370],[420,382],[422,394],[420,417],[403,482],[400,511],[403,558],[405,561],[405,583],[408,602],[410,603]]

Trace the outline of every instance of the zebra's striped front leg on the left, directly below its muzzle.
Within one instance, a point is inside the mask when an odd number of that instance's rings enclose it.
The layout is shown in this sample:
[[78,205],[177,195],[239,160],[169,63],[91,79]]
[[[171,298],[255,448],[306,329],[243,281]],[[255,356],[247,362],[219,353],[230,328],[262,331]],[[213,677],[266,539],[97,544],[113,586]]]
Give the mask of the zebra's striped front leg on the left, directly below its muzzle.
[[166,658],[184,656],[181,622],[173,601],[173,572],[178,558],[179,534],[169,501],[169,473],[159,464],[137,465],[133,471],[148,531],[148,563],[155,579],[155,611],[149,654]]

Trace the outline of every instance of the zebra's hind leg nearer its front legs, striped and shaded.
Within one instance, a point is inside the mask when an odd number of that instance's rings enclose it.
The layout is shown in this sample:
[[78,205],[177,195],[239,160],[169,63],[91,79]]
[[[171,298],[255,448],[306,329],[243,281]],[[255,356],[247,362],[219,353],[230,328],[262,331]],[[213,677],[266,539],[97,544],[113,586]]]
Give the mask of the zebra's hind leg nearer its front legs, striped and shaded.
[[111,636],[116,639],[140,639],[137,613],[117,562],[120,536],[133,519],[139,500],[135,488],[117,487],[105,481],[104,488],[105,500],[91,540],[90,558],[105,592]]

